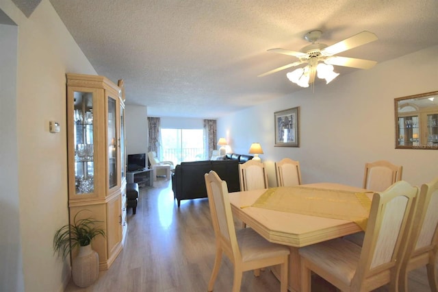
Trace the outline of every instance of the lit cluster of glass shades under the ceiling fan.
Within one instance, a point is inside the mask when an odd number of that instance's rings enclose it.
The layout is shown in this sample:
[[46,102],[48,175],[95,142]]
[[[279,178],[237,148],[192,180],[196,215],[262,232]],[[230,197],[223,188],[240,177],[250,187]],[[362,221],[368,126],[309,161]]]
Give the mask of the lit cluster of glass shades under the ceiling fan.
[[309,87],[310,73],[312,70],[316,70],[318,78],[325,79],[326,84],[329,84],[329,82],[339,75],[339,73],[335,73],[333,69],[333,65],[324,63],[315,64],[315,62],[309,62],[309,65],[305,66],[304,68],[298,68],[287,73],[286,77],[291,82],[294,82],[301,87]]

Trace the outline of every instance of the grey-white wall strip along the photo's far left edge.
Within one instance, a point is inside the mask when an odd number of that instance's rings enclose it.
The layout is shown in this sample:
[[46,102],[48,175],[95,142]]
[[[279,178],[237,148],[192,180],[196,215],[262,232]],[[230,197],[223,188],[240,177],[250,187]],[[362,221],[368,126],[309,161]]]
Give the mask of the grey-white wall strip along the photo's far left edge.
[[0,25],[0,40],[0,290],[24,291],[16,150],[18,27]]

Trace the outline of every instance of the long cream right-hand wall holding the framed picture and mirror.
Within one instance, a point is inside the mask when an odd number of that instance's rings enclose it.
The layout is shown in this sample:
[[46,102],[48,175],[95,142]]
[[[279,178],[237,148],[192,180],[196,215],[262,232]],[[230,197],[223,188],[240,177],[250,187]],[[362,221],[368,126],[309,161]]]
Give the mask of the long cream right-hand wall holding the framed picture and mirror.
[[[438,151],[394,149],[394,98],[438,90],[437,80],[435,46],[339,75],[330,84],[316,85],[314,93],[309,87],[229,114],[218,119],[218,136],[226,133],[233,152],[240,154],[247,154],[251,143],[261,143],[270,186],[276,184],[274,161],[285,157],[300,160],[303,183],[361,186],[365,162],[385,159],[403,165],[404,180],[422,184],[438,176]],[[274,147],[274,112],[296,106],[300,147]]]

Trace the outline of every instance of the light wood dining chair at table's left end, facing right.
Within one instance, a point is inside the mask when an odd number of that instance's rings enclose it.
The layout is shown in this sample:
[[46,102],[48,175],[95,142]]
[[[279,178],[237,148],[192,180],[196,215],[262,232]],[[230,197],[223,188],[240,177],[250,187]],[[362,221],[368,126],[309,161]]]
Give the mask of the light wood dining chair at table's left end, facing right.
[[227,182],[220,180],[215,171],[205,173],[205,184],[216,236],[216,258],[208,283],[208,291],[213,291],[218,276],[222,252],[234,265],[233,292],[240,291],[242,273],[262,267],[281,265],[281,291],[287,291],[287,268],[289,248],[270,243],[252,228],[235,230]]

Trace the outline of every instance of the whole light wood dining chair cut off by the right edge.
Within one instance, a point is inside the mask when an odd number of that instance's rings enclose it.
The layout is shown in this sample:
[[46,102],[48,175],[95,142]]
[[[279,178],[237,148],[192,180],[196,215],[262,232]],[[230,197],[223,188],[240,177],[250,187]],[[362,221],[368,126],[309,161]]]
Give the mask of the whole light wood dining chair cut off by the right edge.
[[423,184],[399,275],[399,291],[408,291],[408,273],[426,265],[430,291],[437,292],[438,178]]

